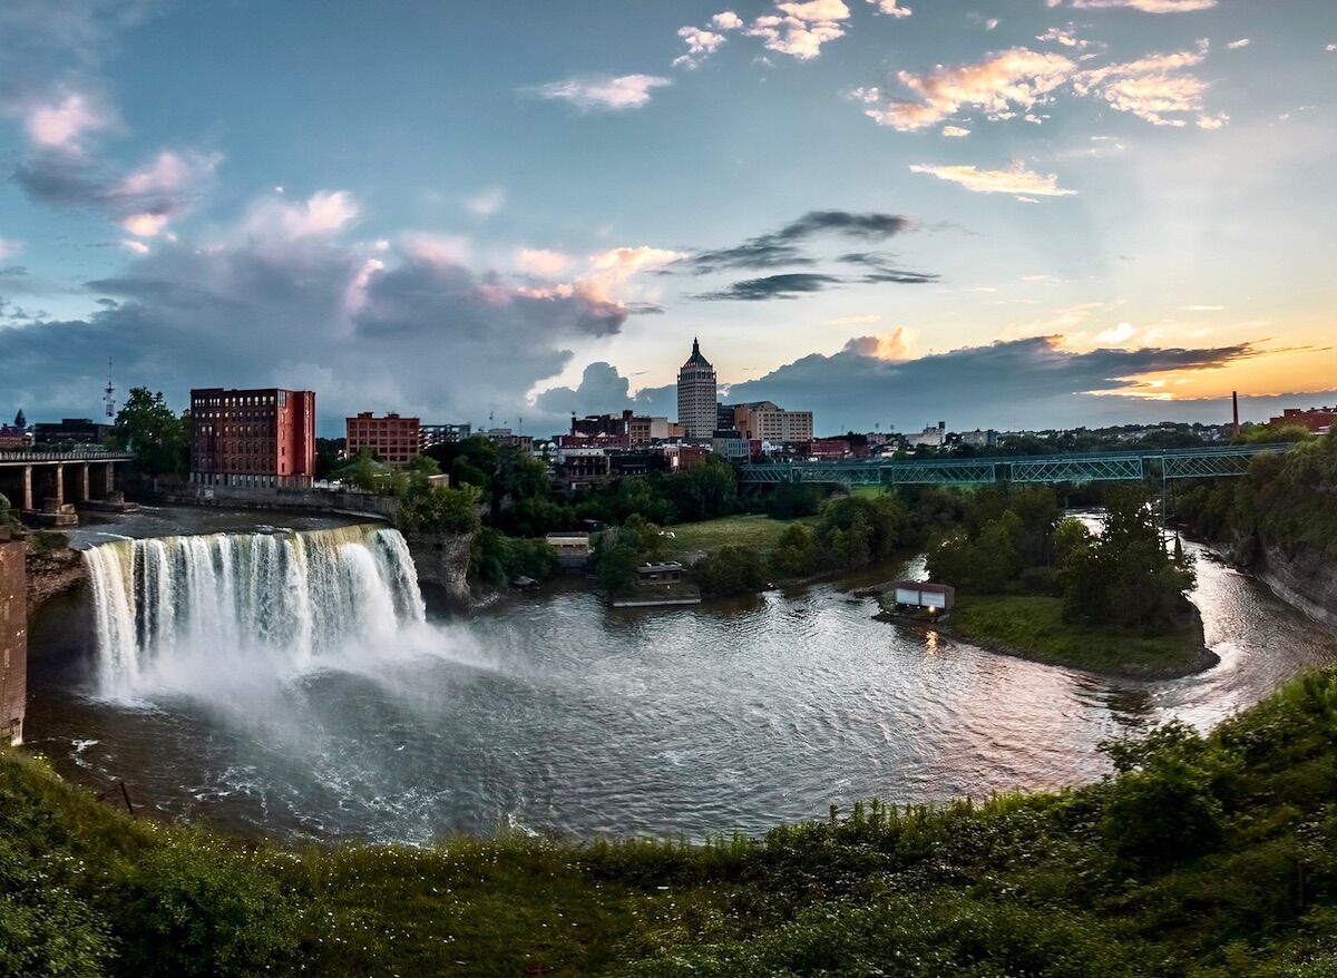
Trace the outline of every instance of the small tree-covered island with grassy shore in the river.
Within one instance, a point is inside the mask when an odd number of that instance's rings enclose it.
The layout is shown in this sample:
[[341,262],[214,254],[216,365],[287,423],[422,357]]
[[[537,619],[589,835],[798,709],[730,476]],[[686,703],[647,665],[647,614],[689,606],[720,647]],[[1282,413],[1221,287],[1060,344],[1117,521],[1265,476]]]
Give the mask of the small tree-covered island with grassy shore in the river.
[[[1193,564],[1178,538],[1166,546],[1140,489],[1107,490],[1099,534],[1064,518],[1048,488],[977,493],[927,568],[957,592],[933,627],[992,652],[1143,680],[1219,661],[1185,596]],[[880,617],[901,620],[884,607]]]

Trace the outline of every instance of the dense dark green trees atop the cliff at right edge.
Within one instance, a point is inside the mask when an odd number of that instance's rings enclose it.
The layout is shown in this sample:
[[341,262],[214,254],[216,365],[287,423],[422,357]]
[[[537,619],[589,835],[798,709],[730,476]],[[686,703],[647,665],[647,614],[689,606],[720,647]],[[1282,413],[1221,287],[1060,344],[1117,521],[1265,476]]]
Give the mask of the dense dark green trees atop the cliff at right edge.
[[1257,456],[1243,478],[1182,488],[1174,512],[1209,538],[1233,538],[1245,560],[1261,546],[1337,558],[1337,436]]

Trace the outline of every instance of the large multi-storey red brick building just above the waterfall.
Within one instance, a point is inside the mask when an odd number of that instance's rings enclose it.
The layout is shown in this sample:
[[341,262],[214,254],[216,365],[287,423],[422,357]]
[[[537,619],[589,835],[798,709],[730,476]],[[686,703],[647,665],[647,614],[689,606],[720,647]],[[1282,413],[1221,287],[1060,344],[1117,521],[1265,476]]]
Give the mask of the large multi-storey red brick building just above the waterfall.
[[227,486],[310,486],[316,394],[257,387],[190,391],[190,481]]

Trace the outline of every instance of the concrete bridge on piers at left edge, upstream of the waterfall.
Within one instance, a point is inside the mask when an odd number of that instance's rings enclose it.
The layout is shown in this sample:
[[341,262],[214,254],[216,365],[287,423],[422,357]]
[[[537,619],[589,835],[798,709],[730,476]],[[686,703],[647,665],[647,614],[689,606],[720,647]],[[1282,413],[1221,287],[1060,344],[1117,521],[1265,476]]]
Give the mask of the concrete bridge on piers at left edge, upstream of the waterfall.
[[79,521],[75,504],[123,502],[116,466],[134,460],[128,452],[0,452],[0,493],[24,520],[48,526]]

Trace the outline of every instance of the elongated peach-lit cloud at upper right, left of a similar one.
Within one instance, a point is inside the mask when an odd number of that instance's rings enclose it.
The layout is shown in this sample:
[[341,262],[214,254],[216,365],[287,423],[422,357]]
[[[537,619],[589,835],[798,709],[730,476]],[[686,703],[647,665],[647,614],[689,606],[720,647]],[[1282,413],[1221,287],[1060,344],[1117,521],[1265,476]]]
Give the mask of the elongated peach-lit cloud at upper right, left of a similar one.
[[913,99],[884,100],[877,88],[858,88],[853,95],[880,126],[908,132],[935,126],[963,107],[980,110],[989,119],[1011,119],[1064,84],[1075,68],[1063,55],[1012,48],[979,64],[937,67],[928,75],[897,72]]

